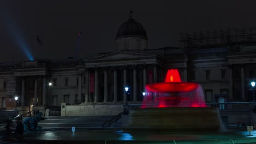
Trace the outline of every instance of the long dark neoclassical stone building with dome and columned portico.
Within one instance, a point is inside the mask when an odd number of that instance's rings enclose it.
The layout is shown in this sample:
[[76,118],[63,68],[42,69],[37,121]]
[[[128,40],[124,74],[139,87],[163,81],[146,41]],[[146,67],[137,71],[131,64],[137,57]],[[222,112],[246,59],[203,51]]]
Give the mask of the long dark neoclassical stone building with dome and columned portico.
[[142,104],[146,84],[162,82],[168,69],[178,69],[182,81],[200,83],[209,106],[252,108],[256,29],[181,33],[179,41],[182,47],[148,49],[146,29],[130,13],[118,28],[114,52],[0,63],[0,106],[49,116],[118,115],[126,101]]

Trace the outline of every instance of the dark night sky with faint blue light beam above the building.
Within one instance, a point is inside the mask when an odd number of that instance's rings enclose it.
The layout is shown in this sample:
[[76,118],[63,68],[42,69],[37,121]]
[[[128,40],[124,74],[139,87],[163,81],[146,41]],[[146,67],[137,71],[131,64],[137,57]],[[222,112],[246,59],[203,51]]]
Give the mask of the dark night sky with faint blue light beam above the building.
[[[21,61],[22,49],[34,57],[36,33],[43,43],[40,59],[74,57],[79,31],[79,57],[114,51],[115,35],[131,9],[147,31],[149,49],[182,46],[179,32],[255,27],[255,5],[254,0],[0,0],[0,62]],[[23,59],[28,60],[25,52]]]

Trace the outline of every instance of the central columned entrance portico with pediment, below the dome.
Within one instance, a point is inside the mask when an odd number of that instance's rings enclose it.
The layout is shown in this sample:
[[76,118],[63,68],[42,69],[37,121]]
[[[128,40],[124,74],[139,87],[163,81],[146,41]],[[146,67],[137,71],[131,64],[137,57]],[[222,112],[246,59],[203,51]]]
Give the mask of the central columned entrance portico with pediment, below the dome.
[[85,60],[90,75],[86,83],[89,89],[94,87],[94,103],[125,104],[126,86],[130,89],[127,99],[138,103],[148,78],[150,82],[158,80],[156,65],[161,67],[159,56],[136,52],[114,52]]

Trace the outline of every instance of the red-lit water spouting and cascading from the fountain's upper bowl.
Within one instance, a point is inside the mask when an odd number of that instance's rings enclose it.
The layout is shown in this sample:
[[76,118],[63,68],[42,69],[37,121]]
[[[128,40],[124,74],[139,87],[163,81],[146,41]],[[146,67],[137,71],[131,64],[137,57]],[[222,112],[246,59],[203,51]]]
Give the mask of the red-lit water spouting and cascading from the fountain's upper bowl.
[[206,107],[202,87],[182,82],[177,69],[167,71],[165,82],[146,85],[144,107]]

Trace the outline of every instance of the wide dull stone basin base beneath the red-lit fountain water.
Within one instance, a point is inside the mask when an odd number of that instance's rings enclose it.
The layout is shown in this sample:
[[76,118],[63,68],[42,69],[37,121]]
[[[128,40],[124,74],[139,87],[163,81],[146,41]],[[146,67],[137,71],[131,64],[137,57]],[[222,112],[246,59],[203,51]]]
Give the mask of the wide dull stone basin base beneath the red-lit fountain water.
[[162,107],[131,109],[124,131],[202,132],[218,131],[218,109],[214,107]]

